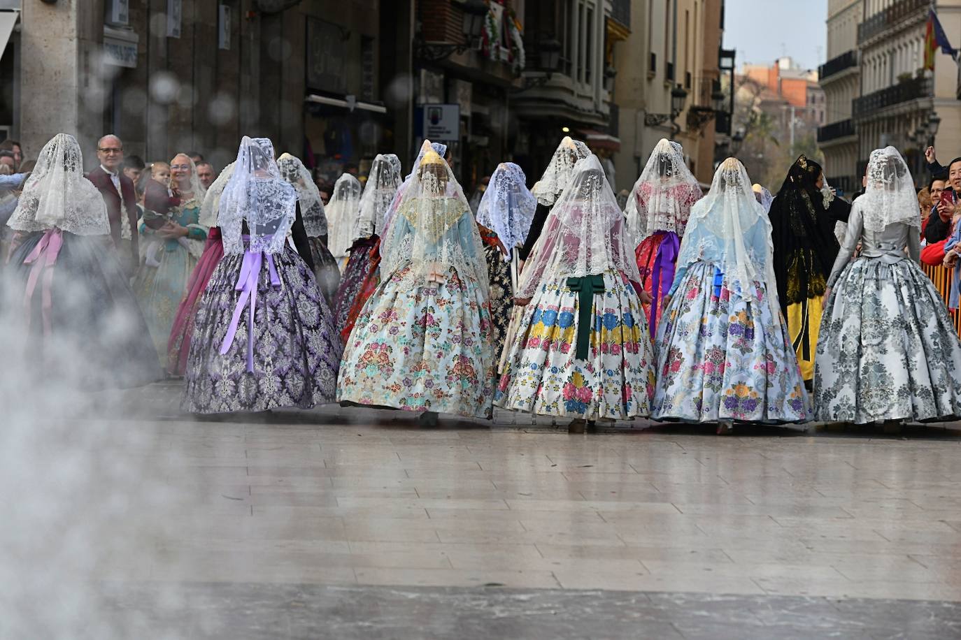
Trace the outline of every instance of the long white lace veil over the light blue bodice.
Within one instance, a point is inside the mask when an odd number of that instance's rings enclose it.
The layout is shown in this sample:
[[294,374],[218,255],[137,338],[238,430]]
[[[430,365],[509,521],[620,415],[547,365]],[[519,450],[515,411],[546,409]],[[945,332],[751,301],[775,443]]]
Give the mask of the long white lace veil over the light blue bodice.
[[725,273],[728,287],[754,300],[760,296],[753,283],[765,284],[772,314],[779,319],[773,254],[771,222],[754,197],[744,165],[729,157],[714,174],[711,190],[691,209],[678,267],[711,262]]

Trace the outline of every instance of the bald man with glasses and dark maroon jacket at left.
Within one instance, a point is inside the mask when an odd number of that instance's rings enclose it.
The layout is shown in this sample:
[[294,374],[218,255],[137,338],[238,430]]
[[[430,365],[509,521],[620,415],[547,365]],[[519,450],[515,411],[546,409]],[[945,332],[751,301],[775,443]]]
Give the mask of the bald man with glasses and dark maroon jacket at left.
[[123,143],[115,135],[105,135],[97,141],[97,159],[100,166],[86,175],[86,179],[100,190],[107,204],[107,215],[111,221],[111,238],[117,248],[117,257],[133,277],[140,264],[140,249],[137,246],[136,228],[136,191],[134,182],[124,176]]

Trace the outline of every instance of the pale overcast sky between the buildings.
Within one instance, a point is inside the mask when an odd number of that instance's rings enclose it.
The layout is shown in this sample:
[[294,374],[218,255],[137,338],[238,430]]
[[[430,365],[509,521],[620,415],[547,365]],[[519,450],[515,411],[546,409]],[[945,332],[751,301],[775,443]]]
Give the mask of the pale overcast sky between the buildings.
[[827,55],[827,0],[725,0],[726,49],[737,49],[737,66],[770,64],[790,56],[814,69]]

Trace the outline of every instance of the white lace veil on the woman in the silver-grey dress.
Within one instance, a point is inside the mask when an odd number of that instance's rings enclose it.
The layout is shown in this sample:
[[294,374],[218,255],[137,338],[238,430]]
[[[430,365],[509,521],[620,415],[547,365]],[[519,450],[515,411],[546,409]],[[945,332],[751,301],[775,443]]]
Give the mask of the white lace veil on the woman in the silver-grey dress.
[[885,147],[871,152],[867,178],[864,195],[854,201],[864,214],[864,228],[883,231],[895,223],[921,227],[914,178],[897,149]]

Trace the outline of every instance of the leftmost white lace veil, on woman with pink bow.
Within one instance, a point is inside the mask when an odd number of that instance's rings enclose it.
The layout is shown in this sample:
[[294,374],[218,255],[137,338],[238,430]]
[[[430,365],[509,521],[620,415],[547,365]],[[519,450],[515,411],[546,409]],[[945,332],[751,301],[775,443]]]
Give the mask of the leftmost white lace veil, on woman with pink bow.
[[7,225],[17,231],[57,227],[74,235],[110,235],[107,205],[84,178],[76,138],[58,133],[43,146]]

